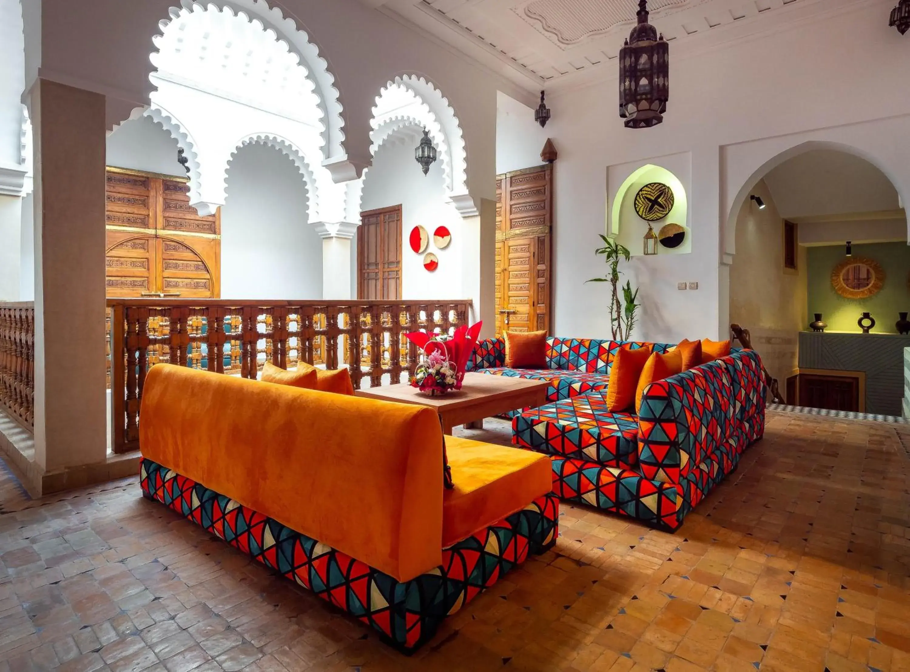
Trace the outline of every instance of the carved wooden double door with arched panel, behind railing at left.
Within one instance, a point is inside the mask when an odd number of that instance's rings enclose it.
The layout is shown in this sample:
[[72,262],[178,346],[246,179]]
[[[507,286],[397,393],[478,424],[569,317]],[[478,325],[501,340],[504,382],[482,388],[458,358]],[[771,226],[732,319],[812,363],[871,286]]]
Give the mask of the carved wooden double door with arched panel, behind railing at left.
[[220,214],[189,205],[186,179],[107,170],[107,296],[217,298]]

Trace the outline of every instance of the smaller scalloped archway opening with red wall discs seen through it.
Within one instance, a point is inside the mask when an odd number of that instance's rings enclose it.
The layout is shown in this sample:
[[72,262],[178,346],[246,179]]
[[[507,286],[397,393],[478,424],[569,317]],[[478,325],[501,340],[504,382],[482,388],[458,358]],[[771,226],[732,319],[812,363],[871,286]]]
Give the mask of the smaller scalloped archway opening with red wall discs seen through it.
[[[467,194],[458,118],[433,85],[404,76],[381,90],[371,125],[373,161],[359,195],[364,224],[352,246],[352,286],[359,298],[389,298],[396,291],[385,280],[379,286],[363,282],[364,269],[376,256],[372,247],[379,245],[380,263],[388,264],[389,254],[397,256],[401,298],[458,298],[465,272],[463,217],[476,215]],[[415,157],[424,133],[436,152],[426,174]],[[392,226],[397,239],[389,233],[369,236],[376,216],[382,231],[391,226],[389,217],[398,218]],[[373,296],[377,292],[381,296]]]

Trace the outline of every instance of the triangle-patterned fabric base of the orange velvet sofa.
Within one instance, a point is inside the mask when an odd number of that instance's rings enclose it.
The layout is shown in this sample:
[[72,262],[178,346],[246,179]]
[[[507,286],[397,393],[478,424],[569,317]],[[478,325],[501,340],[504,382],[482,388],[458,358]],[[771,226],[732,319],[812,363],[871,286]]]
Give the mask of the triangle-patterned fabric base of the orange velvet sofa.
[[559,500],[541,496],[499,522],[442,550],[442,564],[401,582],[339,550],[243,507],[148,459],[139,467],[143,496],[157,500],[284,577],[373,627],[410,652],[502,575],[553,546]]

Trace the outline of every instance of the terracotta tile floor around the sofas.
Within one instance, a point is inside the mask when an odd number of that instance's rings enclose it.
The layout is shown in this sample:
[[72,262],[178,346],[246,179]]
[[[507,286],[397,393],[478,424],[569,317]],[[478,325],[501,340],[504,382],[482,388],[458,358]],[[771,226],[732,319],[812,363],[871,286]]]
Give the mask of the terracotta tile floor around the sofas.
[[29,501],[0,468],[0,672],[910,670],[908,449],[906,426],[769,413],[675,535],[563,505],[555,550],[413,657],[136,479]]

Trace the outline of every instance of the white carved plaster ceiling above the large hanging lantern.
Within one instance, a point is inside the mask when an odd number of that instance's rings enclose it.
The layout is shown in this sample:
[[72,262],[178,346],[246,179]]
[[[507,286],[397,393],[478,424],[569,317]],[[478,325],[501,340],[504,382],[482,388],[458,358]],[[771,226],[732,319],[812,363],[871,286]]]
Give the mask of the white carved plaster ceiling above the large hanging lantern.
[[[729,44],[859,0],[649,0],[675,46]],[[614,75],[638,0],[361,0],[509,77],[528,91]],[[735,27],[734,27],[735,26]],[[674,49],[674,47],[671,47]]]

